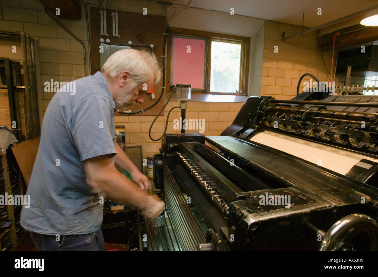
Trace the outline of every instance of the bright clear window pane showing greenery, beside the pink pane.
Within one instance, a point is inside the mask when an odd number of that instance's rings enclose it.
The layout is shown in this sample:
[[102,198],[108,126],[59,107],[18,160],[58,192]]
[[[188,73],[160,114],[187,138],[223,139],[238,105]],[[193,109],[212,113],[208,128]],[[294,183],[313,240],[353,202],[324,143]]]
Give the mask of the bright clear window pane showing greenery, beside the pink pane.
[[211,92],[239,92],[240,43],[211,42]]

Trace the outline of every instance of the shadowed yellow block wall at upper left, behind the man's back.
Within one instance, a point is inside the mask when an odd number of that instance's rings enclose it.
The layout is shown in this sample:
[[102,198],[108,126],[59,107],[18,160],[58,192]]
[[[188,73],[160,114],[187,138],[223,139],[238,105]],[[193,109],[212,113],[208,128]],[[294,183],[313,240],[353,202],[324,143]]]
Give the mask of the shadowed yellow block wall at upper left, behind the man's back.
[[[42,114],[45,114],[48,103],[54,92],[45,92],[44,83],[51,79],[57,82],[70,82],[85,76],[84,51],[82,46],[63,28],[58,26],[44,11],[43,5],[37,0],[2,0],[0,1],[0,29],[13,32],[25,32],[34,37],[40,62],[40,91],[42,92]],[[2,17],[1,17],[2,15]],[[82,19],[61,20],[63,26],[75,34],[87,49],[87,75],[90,74],[87,23],[85,12]],[[2,56],[17,57],[22,53],[3,52]]]

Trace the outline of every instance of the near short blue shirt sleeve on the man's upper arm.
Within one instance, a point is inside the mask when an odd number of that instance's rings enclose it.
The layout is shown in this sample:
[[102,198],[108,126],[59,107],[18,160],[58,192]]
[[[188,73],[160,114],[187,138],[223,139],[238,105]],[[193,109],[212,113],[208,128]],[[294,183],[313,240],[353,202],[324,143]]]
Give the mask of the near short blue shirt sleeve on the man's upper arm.
[[113,118],[113,109],[107,97],[91,95],[74,105],[71,133],[81,161],[117,153]]

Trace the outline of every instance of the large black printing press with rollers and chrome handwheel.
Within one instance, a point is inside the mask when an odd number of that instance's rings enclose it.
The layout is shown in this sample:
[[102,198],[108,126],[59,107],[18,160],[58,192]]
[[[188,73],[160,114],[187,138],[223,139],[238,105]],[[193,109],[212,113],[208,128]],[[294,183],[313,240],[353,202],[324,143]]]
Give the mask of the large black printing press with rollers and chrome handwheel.
[[249,97],[220,136],[166,134],[149,251],[378,249],[378,95]]

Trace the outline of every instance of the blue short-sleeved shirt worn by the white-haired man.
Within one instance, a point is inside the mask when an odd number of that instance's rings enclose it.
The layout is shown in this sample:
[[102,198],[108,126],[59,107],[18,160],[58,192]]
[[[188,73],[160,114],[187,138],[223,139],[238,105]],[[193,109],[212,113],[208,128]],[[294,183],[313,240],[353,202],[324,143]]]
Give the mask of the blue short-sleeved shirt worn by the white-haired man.
[[115,103],[101,74],[70,82],[51,99],[20,223],[48,235],[88,234],[102,223],[102,191],[86,183],[82,161],[116,154]]

